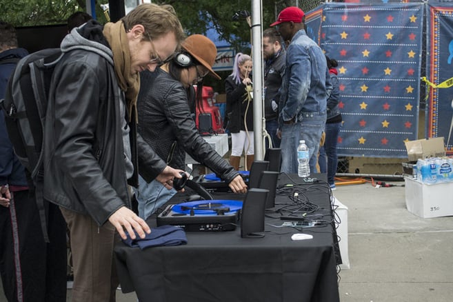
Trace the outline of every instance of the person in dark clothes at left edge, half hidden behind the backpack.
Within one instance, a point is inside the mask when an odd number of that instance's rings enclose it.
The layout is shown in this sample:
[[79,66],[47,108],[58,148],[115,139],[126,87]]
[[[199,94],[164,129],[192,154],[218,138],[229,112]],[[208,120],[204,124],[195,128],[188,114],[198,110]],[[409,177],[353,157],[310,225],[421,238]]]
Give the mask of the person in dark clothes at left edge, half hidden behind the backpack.
[[[0,21],[0,99],[14,66],[27,54],[17,47],[14,27]],[[48,205],[48,214],[46,243],[33,188],[0,110],[0,273],[9,302],[66,301],[66,223],[56,205]]]

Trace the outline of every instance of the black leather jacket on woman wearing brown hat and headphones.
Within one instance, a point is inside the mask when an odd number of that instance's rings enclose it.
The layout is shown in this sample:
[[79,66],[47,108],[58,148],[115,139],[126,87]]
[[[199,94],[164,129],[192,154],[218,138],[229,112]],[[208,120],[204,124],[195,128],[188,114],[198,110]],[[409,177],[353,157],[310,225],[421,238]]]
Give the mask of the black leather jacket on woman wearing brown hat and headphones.
[[194,105],[181,82],[160,68],[141,72],[140,77],[139,133],[157,154],[173,168],[184,170],[187,152],[227,183],[238,176],[239,172],[201,137],[190,110]]

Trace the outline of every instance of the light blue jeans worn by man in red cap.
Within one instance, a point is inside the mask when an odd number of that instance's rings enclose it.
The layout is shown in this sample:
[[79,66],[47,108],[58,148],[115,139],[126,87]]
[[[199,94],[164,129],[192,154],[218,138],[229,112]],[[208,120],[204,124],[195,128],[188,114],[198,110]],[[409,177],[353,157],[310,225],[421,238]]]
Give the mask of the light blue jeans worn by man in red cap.
[[283,124],[281,128],[281,172],[297,173],[297,146],[305,140],[310,155],[310,172],[316,172],[319,141],[324,130],[325,112],[301,112],[297,123]]

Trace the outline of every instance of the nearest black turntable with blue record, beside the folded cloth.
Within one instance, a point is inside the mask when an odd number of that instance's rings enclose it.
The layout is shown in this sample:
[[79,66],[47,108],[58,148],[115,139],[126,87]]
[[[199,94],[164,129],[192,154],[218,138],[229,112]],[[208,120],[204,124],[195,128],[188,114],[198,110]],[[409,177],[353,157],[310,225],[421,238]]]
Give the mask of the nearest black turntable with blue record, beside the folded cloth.
[[236,230],[242,201],[201,200],[168,205],[157,217],[157,225],[177,225],[186,232]]

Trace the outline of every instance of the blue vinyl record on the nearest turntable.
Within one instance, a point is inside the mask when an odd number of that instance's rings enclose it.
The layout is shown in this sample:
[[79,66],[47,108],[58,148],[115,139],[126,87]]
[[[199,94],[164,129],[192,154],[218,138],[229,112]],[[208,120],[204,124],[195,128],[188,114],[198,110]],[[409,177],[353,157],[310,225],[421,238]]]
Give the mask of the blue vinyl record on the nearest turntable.
[[193,211],[197,215],[217,215],[219,212],[223,214],[231,214],[241,210],[242,201],[238,200],[200,200],[188,201],[186,203],[178,203],[172,208],[173,212],[181,214],[190,214]]

